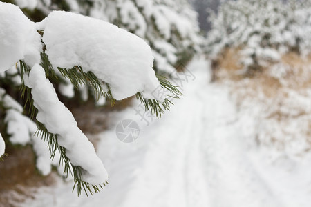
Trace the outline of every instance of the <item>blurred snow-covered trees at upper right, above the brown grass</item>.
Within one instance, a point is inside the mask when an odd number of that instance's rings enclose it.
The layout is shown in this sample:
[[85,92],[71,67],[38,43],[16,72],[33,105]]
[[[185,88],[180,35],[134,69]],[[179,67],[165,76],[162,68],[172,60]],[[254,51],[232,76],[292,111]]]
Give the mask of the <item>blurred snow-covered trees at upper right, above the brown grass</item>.
[[308,1],[225,1],[212,14],[207,52],[217,57],[225,48],[241,48],[245,71],[258,70],[280,55],[310,53],[311,7]]

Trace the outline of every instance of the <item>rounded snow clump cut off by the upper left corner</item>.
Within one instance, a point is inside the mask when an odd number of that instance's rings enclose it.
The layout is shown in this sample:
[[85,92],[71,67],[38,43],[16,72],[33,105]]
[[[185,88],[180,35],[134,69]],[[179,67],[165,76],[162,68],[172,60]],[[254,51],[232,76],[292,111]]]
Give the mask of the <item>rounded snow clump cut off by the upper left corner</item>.
[[20,59],[33,66],[40,62],[41,37],[19,7],[0,2],[0,72]]

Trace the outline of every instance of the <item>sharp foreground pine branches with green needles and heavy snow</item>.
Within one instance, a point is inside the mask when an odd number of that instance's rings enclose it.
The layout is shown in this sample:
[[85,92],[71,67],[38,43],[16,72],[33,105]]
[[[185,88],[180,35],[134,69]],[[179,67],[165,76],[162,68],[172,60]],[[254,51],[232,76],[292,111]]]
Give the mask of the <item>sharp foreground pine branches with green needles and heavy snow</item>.
[[[158,117],[169,108],[168,98],[180,95],[155,74],[147,43],[106,21],[55,11],[34,23],[19,7],[0,2],[0,31],[0,80],[9,82],[0,84],[0,109],[10,141],[32,144],[43,175],[51,164],[61,166],[67,177],[73,176],[78,195],[98,192],[108,174],[50,79],[63,77],[75,88],[87,84],[97,99],[111,102],[136,95]],[[28,112],[2,85],[21,87]],[[158,87],[169,97],[154,97]],[[4,148],[0,136],[1,155]]]

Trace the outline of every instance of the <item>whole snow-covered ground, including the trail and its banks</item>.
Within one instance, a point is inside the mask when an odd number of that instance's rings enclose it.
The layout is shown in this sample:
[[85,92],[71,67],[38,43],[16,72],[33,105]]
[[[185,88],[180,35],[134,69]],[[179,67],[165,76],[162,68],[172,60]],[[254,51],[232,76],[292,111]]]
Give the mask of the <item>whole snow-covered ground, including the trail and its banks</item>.
[[[193,61],[196,77],[159,120],[142,120],[133,108],[115,112],[97,154],[109,185],[91,197],[71,193],[73,183],[37,189],[21,206],[310,206],[311,155],[275,159],[256,145],[225,86],[209,83],[208,63]],[[138,139],[122,143],[115,126],[133,119]],[[249,124],[252,126],[252,124]]]

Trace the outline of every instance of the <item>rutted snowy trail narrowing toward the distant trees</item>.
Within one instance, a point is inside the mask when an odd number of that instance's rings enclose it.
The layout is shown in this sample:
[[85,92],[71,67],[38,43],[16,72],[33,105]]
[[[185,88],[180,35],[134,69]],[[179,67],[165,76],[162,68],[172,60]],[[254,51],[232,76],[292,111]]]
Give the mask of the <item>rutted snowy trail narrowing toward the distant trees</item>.
[[207,70],[196,72],[185,97],[149,129],[160,133],[123,206],[280,206],[247,158],[228,93],[207,84]]

